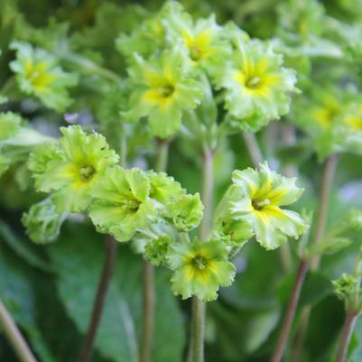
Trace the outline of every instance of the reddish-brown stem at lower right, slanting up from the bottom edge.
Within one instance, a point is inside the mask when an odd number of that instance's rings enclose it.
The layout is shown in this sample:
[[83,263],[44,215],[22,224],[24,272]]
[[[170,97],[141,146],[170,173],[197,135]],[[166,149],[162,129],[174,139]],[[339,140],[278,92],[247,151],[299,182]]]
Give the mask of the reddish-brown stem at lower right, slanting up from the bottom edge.
[[282,360],[284,348],[286,346],[286,342],[288,340],[289,333],[292,327],[292,320],[294,319],[295,311],[297,309],[299,297],[302,291],[302,285],[304,283],[304,278],[307,274],[307,270],[308,264],[305,260],[302,260],[301,264],[299,265],[297,276],[295,278],[295,282],[292,288],[292,295],[285,313],[282,330],[279,335],[278,341],[276,342],[273,357],[270,360],[271,362],[280,362]]

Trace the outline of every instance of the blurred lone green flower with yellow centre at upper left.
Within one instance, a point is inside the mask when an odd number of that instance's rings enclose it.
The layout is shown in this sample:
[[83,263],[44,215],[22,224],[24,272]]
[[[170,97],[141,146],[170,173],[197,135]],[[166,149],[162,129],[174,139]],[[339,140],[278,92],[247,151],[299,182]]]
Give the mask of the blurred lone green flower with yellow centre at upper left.
[[71,103],[67,88],[77,84],[77,76],[64,72],[48,51],[32,48],[27,42],[13,42],[16,60],[10,68],[25,94],[38,97],[45,106],[59,112]]

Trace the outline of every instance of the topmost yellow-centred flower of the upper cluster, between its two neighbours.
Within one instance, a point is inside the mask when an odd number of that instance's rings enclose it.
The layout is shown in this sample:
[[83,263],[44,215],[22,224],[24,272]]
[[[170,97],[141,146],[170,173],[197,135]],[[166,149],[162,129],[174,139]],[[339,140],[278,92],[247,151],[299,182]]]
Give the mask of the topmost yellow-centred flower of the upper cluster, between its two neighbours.
[[180,5],[173,5],[163,24],[171,32],[174,42],[182,42],[193,64],[215,63],[231,53],[229,44],[222,39],[223,28],[216,23],[214,14],[194,23],[192,16]]

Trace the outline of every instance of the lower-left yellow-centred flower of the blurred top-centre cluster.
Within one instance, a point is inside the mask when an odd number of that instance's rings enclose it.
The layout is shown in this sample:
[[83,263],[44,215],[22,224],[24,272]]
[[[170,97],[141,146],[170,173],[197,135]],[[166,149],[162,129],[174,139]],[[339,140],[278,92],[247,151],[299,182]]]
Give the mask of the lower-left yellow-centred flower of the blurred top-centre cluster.
[[202,84],[191,75],[178,49],[147,62],[135,56],[135,66],[129,72],[135,91],[130,110],[122,114],[129,121],[147,116],[153,135],[174,135],[181,127],[182,113],[200,104]]

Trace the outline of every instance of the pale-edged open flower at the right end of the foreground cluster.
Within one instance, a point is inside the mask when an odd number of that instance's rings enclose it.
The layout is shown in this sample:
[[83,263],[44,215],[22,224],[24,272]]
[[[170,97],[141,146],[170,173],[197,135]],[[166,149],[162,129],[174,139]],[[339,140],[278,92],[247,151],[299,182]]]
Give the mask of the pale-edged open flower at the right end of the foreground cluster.
[[256,241],[266,249],[283,245],[287,237],[297,238],[307,226],[300,215],[282,209],[298,200],[303,189],[295,186],[295,178],[285,178],[269,170],[267,162],[260,171],[247,168],[233,172],[234,200],[230,201],[232,218],[250,223]]

